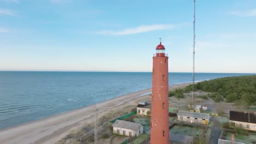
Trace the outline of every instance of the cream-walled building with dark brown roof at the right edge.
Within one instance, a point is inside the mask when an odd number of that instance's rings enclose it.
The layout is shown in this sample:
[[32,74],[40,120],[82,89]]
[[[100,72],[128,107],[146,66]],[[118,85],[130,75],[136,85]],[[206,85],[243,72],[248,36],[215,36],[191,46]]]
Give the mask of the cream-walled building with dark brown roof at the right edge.
[[256,131],[256,112],[229,111],[229,122],[236,127]]

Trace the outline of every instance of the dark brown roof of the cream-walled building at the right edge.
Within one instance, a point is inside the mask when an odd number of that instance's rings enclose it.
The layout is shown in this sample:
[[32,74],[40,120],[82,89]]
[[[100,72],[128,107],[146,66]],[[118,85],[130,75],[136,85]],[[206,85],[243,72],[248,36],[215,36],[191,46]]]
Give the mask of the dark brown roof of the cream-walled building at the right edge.
[[240,111],[229,111],[229,120],[246,123],[256,123],[256,114]]

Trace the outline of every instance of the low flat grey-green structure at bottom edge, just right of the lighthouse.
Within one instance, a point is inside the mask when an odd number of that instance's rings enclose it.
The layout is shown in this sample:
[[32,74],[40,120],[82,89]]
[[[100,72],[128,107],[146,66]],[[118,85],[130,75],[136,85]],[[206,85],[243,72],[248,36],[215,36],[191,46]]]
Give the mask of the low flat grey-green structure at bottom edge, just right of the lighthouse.
[[170,133],[170,142],[172,144],[190,144],[193,143],[193,137],[188,135]]

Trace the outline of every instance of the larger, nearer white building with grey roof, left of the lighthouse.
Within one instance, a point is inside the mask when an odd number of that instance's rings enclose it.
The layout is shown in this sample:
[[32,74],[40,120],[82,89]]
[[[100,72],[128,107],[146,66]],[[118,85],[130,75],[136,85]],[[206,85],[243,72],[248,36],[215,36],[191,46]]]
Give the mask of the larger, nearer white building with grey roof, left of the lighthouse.
[[127,121],[118,120],[112,124],[113,133],[125,136],[139,136],[143,134],[143,125],[140,123],[133,123]]

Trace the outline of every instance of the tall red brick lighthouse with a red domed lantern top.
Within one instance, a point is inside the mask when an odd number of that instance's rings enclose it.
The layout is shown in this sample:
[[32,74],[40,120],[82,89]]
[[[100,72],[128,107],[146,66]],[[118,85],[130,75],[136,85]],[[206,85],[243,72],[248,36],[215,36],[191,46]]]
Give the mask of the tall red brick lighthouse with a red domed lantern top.
[[150,143],[169,143],[168,56],[161,39],[153,57],[151,109]]

